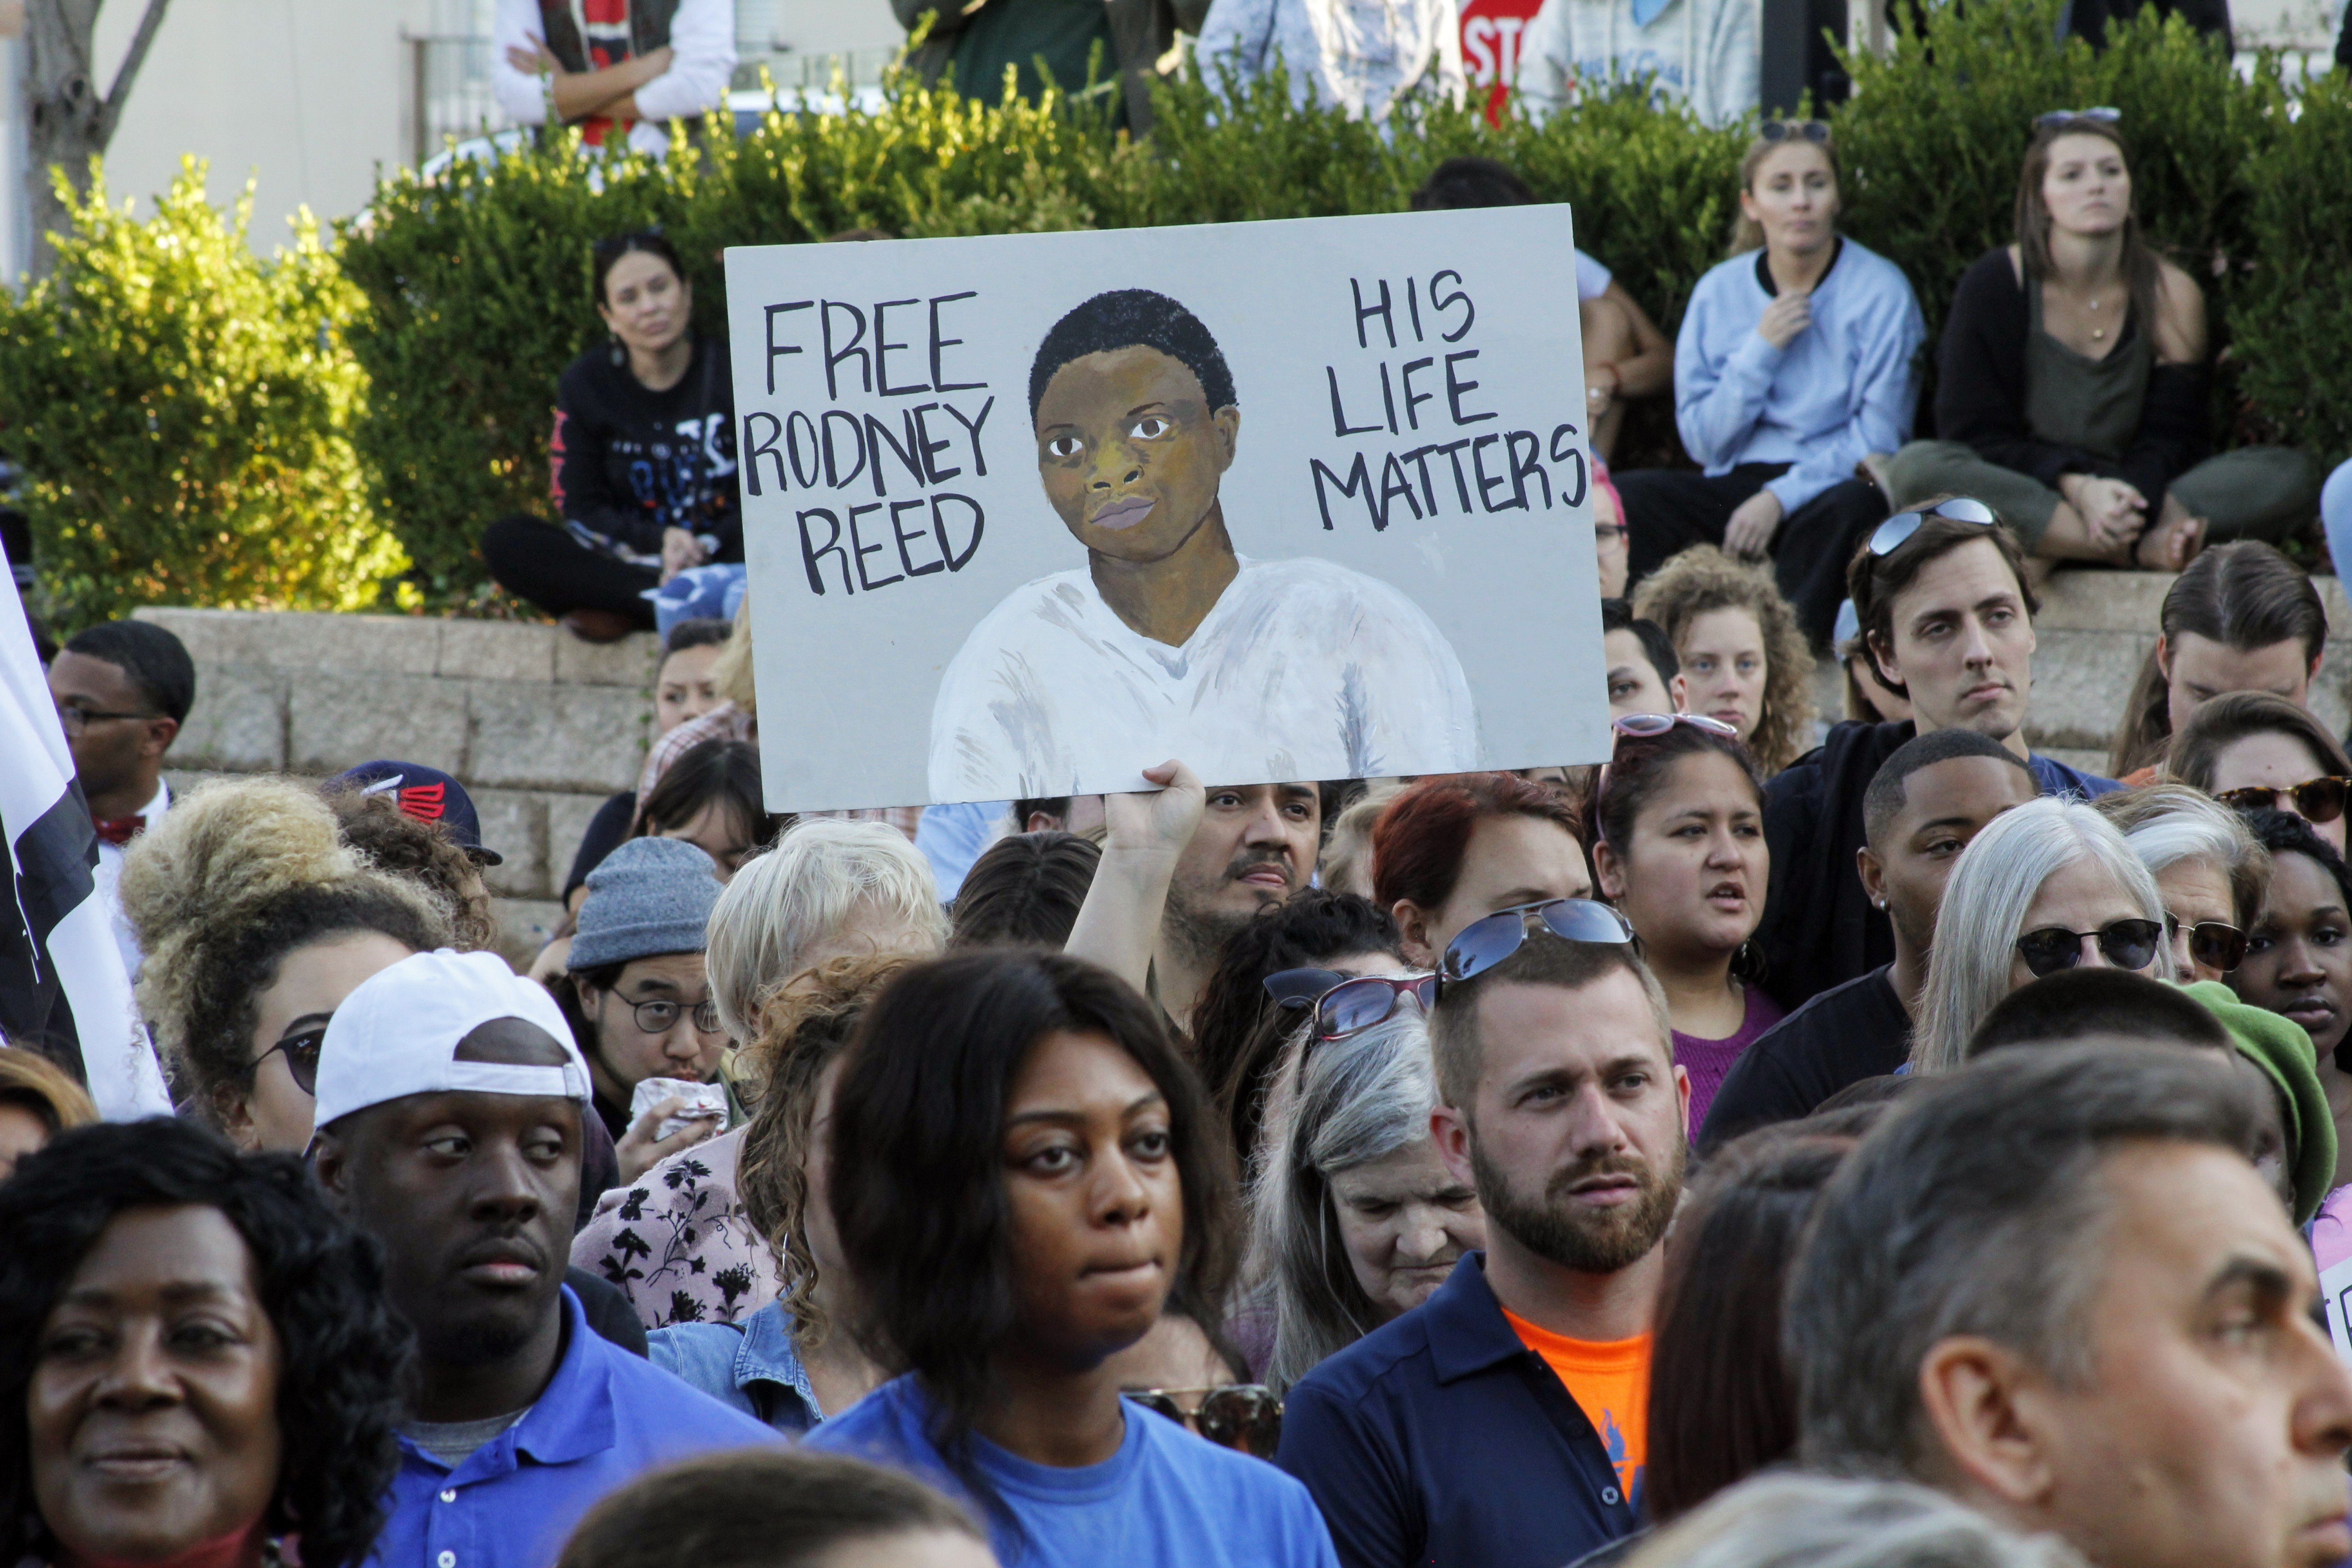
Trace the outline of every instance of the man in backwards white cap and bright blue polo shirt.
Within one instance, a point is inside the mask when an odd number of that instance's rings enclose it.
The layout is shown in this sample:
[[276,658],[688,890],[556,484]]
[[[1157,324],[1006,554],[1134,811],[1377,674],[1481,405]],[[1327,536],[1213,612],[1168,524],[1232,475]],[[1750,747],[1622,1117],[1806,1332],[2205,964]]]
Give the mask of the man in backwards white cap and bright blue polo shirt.
[[318,1060],[320,1182],[386,1251],[416,1394],[374,1561],[546,1568],[640,1472],[774,1432],[588,1328],[564,1286],[588,1065],[487,952],[360,983]]

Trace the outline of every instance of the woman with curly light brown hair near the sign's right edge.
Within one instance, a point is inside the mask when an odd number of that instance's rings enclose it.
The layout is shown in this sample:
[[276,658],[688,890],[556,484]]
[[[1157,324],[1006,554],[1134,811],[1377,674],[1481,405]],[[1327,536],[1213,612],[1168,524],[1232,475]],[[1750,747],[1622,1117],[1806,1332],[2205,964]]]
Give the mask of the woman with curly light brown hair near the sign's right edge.
[[1813,750],[1813,651],[1764,567],[1693,545],[1642,581],[1632,614],[1675,639],[1689,710],[1736,729],[1766,778]]

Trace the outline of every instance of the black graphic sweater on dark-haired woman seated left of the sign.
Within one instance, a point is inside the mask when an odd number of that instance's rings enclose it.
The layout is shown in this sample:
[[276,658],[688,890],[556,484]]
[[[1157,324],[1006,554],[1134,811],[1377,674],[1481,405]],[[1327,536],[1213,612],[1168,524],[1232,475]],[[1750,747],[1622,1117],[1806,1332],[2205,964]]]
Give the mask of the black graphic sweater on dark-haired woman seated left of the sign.
[[555,388],[548,458],[555,510],[586,543],[661,559],[661,531],[687,529],[713,559],[743,559],[727,343],[696,334],[687,374],[666,393],[614,364],[609,348],[588,350]]

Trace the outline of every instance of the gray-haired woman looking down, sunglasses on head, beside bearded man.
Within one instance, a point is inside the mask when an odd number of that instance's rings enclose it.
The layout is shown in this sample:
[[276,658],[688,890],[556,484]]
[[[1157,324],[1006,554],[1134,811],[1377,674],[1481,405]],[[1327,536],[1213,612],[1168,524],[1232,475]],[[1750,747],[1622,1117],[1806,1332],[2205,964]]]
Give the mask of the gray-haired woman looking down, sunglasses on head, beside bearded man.
[[1275,1077],[1251,1194],[1254,1272],[1275,1309],[1265,1385],[1277,1394],[1425,1302],[1486,1241],[1477,1194],[1430,1140],[1437,1077],[1421,1011],[1397,1006],[1338,1039],[1317,1020]]

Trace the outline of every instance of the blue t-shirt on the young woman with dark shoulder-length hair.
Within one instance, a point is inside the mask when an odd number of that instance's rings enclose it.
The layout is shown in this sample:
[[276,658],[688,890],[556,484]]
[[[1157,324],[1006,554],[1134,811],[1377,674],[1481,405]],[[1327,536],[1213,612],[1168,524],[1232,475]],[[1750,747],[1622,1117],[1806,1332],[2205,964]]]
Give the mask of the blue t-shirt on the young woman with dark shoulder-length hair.
[[[915,1380],[894,1378],[809,1432],[807,1446],[913,1472],[969,1502],[924,1436],[929,1413]],[[1101,1465],[1037,1465],[978,1434],[971,1460],[1025,1537],[990,1516],[1004,1568],[1338,1568],[1305,1486],[1136,1403],[1127,1439]]]

